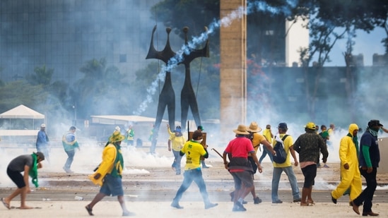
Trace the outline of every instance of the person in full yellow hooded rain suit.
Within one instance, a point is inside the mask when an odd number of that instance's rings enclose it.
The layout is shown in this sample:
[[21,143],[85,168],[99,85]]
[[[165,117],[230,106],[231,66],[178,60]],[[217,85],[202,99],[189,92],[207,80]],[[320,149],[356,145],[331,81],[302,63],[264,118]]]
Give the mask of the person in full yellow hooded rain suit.
[[339,145],[339,159],[341,160],[341,182],[331,192],[334,204],[343,193],[350,188],[350,201],[352,202],[362,191],[360,169],[358,169],[358,126],[351,123],[348,135],[341,138]]

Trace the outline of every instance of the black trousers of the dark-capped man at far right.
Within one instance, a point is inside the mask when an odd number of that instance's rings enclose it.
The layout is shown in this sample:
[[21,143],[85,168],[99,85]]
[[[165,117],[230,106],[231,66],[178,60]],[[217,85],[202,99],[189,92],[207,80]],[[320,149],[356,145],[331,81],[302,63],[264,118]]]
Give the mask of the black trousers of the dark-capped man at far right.
[[373,170],[370,174],[367,173],[367,169],[360,168],[361,175],[364,176],[365,181],[367,183],[367,187],[363,190],[363,192],[353,200],[355,205],[360,206],[364,202],[363,213],[372,211],[372,200],[373,195],[375,194],[375,190],[377,187],[376,174],[377,168],[373,167]]

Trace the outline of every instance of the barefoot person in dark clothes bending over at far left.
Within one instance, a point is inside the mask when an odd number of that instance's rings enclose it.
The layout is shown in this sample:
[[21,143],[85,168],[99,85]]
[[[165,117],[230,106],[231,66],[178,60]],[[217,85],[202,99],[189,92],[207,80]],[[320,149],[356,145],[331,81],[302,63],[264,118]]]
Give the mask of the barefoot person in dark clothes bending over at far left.
[[[33,207],[25,205],[25,196],[31,192],[28,177],[31,176],[35,187],[38,187],[37,169],[42,168],[40,162],[44,159],[45,155],[42,152],[34,152],[32,155],[20,155],[11,160],[7,167],[7,174],[16,186],[18,186],[18,189],[13,191],[8,197],[1,198],[5,207],[11,209],[11,200],[20,195],[20,209],[33,209]],[[21,172],[23,171],[24,174],[22,175]]]

